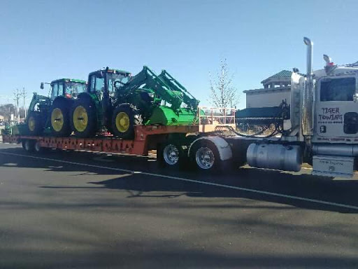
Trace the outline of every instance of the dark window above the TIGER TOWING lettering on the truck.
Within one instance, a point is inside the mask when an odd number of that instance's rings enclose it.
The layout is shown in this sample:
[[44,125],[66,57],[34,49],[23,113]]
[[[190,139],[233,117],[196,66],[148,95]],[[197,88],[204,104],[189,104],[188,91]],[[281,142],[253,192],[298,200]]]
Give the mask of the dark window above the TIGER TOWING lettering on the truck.
[[326,101],[353,101],[355,78],[334,78],[321,82],[320,99]]

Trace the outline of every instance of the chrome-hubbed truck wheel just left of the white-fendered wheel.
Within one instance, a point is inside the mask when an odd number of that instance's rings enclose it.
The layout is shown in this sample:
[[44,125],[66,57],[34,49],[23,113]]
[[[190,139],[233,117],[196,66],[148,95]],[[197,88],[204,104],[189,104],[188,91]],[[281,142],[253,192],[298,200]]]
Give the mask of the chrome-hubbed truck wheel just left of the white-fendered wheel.
[[160,167],[187,167],[187,151],[178,142],[168,141],[157,146],[157,161]]

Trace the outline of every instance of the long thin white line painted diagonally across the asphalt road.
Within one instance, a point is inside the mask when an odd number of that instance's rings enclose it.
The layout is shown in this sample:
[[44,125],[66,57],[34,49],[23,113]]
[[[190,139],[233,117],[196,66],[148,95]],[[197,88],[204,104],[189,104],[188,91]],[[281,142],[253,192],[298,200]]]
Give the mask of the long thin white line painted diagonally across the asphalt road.
[[255,190],[255,189],[252,189],[252,188],[242,188],[242,187],[236,187],[236,186],[230,186],[230,185],[224,185],[224,184],[217,184],[217,183],[213,183],[213,182],[199,181],[199,180],[195,180],[195,179],[185,179],[183,177],[166,176],[165,174],[155,174],[155,173],[149,173],[149,172],[127,170],[127,169],[122,169],[122,168],[106,167],[106,166],[101,166],[101,165],[89,165],[87,163],[76,163],[76,162],[70,162],[68,160],[57,160],[57,159],[43,158],[43,157],[38,157],[38,156],[22,155],[22,154],[17,154],[17,153],[8,153],[8,152],[4,152],[4,151],[0,151],[0,153],[4,154],[4,155],[12,155],[12,156],[19,156],[19,157],[34,158],[34,159],[38,159],[38,160],[50,160],[52,162],[57,162],[57,163],[67,163],[69,165],[82,165],[82,166],[87,166],[87,167],[94,167],[94,168],[99,168],[99,169],[126,172],[126,173],[131,173],[131,174],[145,174],[145,175],[151,176],[151,177],[162,177],[162,178],[165,178],[165,179],[174,179],[174,180],[180,180],[180,181],[187,181],[187,182],[192,182],[192,183],[197,183],[197,184],[203,184],[203,185],[209,185],[209,186],[217,186],[217,187],[221,187],[221,188],[231,188],[231,189],[238,190],[238,191],[247,191],[247,192],[250,192],[250,193],[260,193],[260,194],[271,195],[271,196],[276,196],[276,197],[289,198],[289,199],[292,199],[292,200],[315,202],[317,204],[322,204],[322,205],[331,205],[331,206],[335,206],[335,207],[344,207],[344,208],[357,209],[358,210],[358,207],[356,207],[354,205],[345,205],[345,204],[340,204],[340,203],[337,203],[337,202],[327,202],[327,201],[322,201],[322,200],[303,198],[303,197],[294,196],[294,195],[286,195],[286,194],[282,194],[282,193],[271,193],[269,191],[259,191],[259,190]]

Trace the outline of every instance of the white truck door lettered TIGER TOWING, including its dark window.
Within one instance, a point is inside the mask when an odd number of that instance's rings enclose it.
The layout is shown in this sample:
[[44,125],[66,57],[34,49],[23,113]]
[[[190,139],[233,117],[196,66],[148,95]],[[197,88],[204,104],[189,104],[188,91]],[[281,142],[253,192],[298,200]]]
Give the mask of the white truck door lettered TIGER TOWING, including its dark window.
[[357,140],[358,104],[353,100],[356,91],[356,76],[327,77],[317,81],[317,140],[339,143]]

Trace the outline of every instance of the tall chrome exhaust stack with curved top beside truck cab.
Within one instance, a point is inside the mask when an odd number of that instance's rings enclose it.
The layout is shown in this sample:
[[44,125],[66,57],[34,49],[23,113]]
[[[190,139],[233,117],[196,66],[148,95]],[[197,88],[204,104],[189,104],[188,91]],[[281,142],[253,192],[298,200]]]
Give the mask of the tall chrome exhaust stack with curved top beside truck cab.
[[313,136],[313,71],[312,71],[312,55],[313,42],[307,37],[303,39],[307,46],[307,75],[303,87],[302,102],[302,135],[306,142],[310,144],[310,138]]

